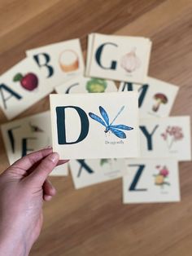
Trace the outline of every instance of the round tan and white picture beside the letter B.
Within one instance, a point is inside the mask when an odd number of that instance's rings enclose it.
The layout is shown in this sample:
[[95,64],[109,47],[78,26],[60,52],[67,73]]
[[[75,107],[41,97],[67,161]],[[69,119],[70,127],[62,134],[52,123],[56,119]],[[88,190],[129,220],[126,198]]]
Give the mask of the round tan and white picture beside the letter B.
[[79,68],[79,58],[75,51],[65,50],[59,55],[59,65],[63,72],[72,72]]

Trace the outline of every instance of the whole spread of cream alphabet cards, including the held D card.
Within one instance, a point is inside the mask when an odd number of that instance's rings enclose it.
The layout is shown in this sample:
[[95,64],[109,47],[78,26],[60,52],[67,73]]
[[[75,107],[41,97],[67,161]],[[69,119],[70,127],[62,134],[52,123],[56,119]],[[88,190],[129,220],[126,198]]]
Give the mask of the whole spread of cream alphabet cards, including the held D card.
[[[0,77],[8,119],[50,95],[50,111],[1,126],[7,156],[52,144],[75,188],[123,179],[124,204],[180,201],[179,161],[191,160],[190,117],[169,117],[178,86],[148,77],[149,38],[88,36],[26,51]],[[118,86],[117,86],[118,84]],[[68,175],[58,166],[52,175]]]

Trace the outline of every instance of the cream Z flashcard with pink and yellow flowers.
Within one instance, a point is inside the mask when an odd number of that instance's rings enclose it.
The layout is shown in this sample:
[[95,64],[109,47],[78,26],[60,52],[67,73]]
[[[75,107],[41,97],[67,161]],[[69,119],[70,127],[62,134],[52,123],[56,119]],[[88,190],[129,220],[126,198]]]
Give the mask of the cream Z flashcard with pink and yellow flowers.
[[123,177],[124,204],[180,201],[175,159],[128,159]]

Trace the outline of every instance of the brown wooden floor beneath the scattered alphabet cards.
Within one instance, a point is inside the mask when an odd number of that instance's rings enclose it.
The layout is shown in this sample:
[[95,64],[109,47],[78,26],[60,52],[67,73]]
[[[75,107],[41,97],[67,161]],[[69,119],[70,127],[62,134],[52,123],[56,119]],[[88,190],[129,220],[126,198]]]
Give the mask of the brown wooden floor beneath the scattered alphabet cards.
[[[172,115],[192,114],[192,0],[1,0],[0,73],[24,51],[91,32],[149,37],[150,75],[181,87]],[[20,117],[49,108],[48,97]],[[0,113],[0,123],[6,122]],[[8,166],[0,136],[0,171]],[[185,148],[184,148],[185,150]],[[180,164],[181,203],[122,205],[121,180],[58,190],[31,256],[191,256],[192,164]],[[16,256],[16,255],[15,255]]]

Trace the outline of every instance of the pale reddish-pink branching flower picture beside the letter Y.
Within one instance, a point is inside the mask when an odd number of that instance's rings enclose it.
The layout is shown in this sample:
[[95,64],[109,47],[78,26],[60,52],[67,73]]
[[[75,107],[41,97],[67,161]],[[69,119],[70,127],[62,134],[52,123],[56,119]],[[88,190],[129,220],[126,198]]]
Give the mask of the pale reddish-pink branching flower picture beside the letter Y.
[[184,138],[180,126],[168,126],[161,136],[166,141],[168,149],[171,149],[174,143]]

